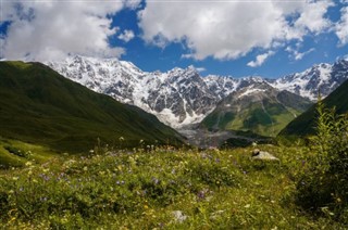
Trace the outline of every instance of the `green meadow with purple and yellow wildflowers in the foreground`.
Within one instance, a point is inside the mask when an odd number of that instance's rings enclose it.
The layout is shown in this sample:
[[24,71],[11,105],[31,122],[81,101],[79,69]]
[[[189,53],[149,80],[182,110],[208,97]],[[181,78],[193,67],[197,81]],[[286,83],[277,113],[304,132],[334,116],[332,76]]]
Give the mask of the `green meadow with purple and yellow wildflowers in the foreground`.
[[[151,149],[151,146],[149,146]],[[296,178],[309,150],[260,145],[279,163],[250,159],[251,149],[146,149],[27,163],[0,176],[5,229],[339,229],[330,216],[296,206]],[[178,220],[174,213],[182,215]]]

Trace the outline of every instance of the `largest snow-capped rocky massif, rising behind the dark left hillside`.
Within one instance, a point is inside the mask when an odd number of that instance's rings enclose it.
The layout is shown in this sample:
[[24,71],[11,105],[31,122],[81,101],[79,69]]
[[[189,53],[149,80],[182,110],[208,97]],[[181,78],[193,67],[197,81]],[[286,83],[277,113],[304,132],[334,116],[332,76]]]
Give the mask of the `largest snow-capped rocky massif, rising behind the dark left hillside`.
[[199,123],[219,101],[192,66],[147,73],[130,62],[79,55],[46,64],[94,91],[139,106],[174,128]]

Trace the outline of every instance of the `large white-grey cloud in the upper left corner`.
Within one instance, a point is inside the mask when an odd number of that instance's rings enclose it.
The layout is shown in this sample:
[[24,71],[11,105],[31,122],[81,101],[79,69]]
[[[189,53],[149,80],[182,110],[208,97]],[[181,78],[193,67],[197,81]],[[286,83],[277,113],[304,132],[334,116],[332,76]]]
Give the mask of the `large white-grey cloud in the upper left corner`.
[[[108,17],[139,1],[4,1],[3,22],[10,22],[2,38],[1,55],[8,60],[54,60],[67,53],[120,56],[122,48],[110,47],[116,33]],[[0,22],[1,23],[1,22]]]

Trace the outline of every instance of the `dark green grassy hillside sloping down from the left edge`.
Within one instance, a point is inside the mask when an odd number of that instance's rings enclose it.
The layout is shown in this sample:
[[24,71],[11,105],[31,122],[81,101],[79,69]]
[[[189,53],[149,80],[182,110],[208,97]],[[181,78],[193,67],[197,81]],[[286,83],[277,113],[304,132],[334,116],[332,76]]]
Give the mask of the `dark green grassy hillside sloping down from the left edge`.
[[[101,142],[182,143],[156,116],[73,82],[40,63],[0,62],[0,136],[58,151]],[[123,140],[124,139],[124,140]]]

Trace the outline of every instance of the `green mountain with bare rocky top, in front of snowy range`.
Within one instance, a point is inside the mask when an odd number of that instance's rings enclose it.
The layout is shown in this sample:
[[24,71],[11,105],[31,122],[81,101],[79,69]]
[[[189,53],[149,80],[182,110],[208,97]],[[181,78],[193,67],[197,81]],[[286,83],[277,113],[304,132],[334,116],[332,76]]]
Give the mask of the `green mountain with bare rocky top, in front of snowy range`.
[[235,92],[221,101],[201,126],[210,130],[241,130],[275,137],[311,105],[299,95],[276,91],[266,85],[260,86],[258,93],[244,93]]

